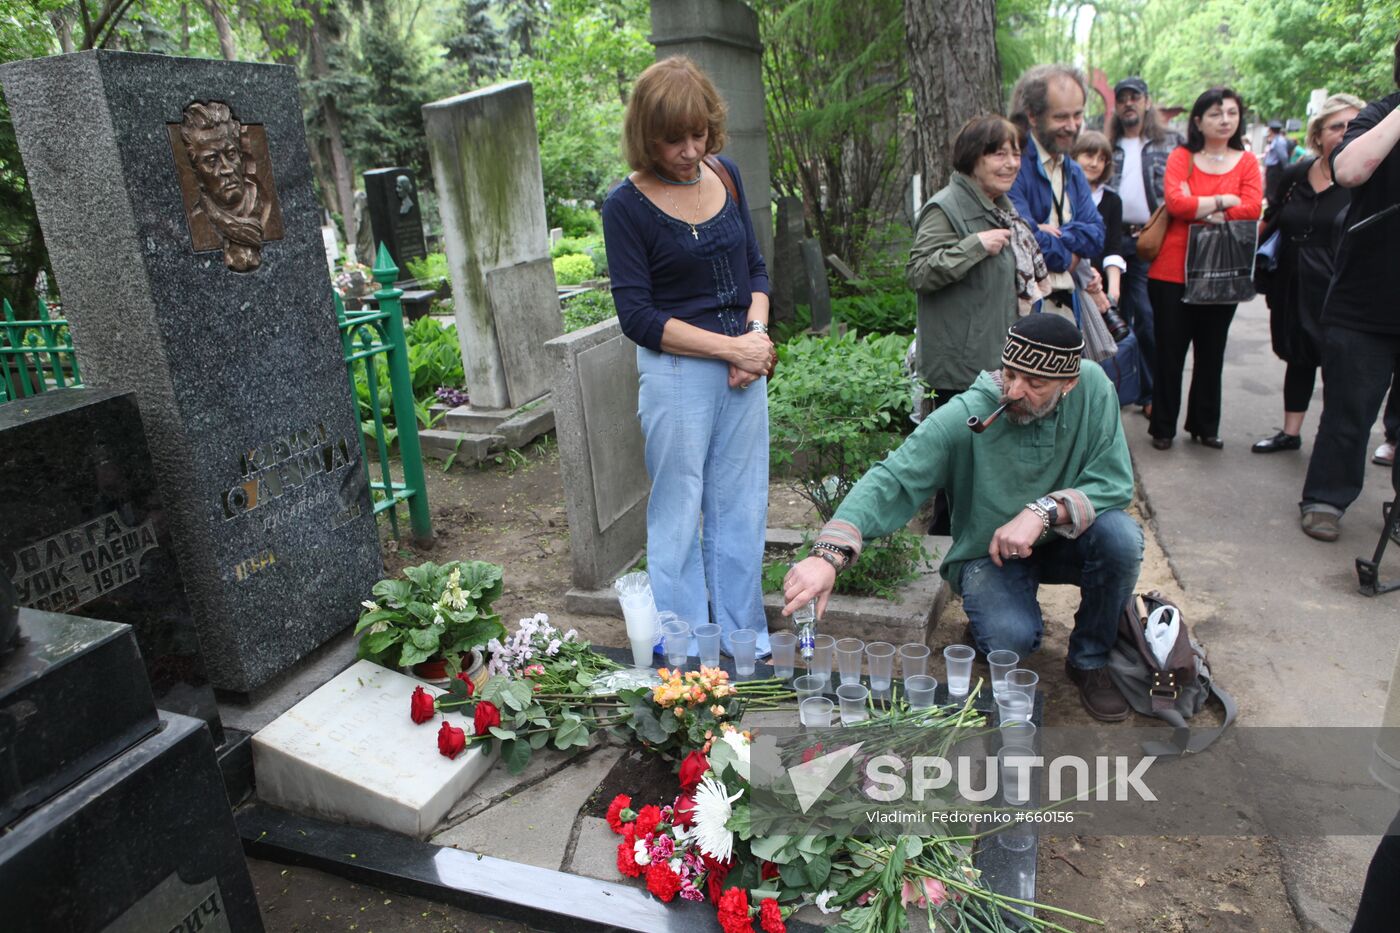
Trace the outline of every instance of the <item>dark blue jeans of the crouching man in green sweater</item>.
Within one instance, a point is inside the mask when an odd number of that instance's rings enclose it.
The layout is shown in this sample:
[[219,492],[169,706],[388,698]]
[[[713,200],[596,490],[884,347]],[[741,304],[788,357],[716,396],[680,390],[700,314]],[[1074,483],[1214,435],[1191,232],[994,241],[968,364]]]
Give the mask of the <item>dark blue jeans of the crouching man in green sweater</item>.
[[1040,647],[1044,619],[1036,591],[1042,583],[1079,587],[1079,609],[1070,635],[1070,664],[1091,671],[1109,663],[1119,615],[1133,597],[1142,565],[1142,530],[1127,513],[1100,513],[1074,539],[1054,537],[1023,560],[969,560],[958,577],[963,609],[983,653],[1011,649],[1021,657]]

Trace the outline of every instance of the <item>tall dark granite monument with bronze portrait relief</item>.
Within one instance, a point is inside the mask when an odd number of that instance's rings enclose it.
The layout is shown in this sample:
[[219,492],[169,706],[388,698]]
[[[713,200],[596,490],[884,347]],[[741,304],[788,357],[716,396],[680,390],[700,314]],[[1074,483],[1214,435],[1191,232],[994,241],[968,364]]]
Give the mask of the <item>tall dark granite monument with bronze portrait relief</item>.
[[295,71],[90,50],[0,81],[84,380],[136,391],[210,678],[255,691],[382,572]]

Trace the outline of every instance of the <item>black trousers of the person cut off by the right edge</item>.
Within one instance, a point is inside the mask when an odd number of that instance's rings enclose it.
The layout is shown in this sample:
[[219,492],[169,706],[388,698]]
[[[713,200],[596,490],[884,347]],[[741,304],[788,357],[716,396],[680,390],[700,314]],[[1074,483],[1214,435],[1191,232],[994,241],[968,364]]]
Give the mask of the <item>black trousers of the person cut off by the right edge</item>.
[[[1323,329],[1322,419],[1303,481],[1303,511],[1317,504],[1345,511],[1361,495],[1371,426],[1396,373],[1400,335]],[[1400,458],[1396,464],[1392,483],[1400,485]]]

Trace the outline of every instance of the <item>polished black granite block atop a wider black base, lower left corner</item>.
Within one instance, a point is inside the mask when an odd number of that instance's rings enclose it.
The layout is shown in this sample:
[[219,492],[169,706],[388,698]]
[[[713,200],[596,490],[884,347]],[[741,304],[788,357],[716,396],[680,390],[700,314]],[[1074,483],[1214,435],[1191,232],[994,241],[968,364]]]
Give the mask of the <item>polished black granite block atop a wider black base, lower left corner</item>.
[[20,609],[20,647],[0,657],[0,828],[157,724],[130,626]]

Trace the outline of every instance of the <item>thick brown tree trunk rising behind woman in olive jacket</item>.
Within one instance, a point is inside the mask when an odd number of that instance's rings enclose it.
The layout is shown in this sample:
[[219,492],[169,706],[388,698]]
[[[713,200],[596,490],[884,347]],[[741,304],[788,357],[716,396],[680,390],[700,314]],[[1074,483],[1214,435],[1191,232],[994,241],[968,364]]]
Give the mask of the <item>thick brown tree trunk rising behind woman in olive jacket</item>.
[[979,113],[1001,113],[995,0],[904,0],[909,80],[924,193],[952,177],[958,129]]

